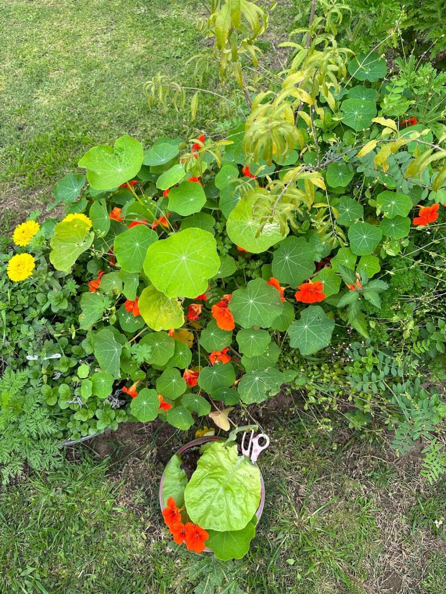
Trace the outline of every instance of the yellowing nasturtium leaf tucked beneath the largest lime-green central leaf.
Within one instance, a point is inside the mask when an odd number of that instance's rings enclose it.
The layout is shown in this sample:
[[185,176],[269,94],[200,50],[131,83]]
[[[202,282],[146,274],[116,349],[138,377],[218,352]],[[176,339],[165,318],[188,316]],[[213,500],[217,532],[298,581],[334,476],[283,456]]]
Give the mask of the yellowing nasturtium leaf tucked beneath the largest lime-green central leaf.
[[184,312],[178,299],[166,297],[153,285],[143,290],[138,307],[145,323],[152,330],[170,330],[184,324]]

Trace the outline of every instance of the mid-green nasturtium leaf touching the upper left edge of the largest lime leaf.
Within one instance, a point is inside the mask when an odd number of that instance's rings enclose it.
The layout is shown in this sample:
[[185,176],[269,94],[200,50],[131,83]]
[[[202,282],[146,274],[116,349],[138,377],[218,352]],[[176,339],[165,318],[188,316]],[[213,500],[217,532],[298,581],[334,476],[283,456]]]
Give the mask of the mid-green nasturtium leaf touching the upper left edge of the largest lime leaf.
[[127,272],[141,272],[149,245],[158,241],[158,233],[136,225],[115,239],[114,252],[118,264]]

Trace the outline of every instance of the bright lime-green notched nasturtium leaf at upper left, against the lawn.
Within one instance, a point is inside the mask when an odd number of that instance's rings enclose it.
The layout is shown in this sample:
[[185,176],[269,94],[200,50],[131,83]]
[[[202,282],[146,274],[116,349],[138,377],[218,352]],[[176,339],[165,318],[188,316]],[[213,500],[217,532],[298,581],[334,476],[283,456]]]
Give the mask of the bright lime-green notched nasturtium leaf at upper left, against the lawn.
[[116,188],[133,179],[143,164],[143,146],[134,138],[124,135],[114,147],[98,144],[78,162],[87,170],[87,179],[93,189]]

